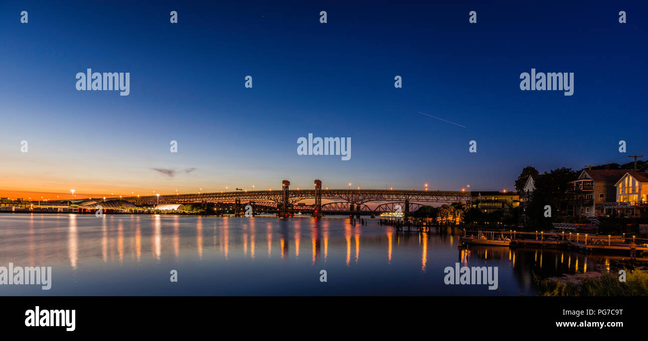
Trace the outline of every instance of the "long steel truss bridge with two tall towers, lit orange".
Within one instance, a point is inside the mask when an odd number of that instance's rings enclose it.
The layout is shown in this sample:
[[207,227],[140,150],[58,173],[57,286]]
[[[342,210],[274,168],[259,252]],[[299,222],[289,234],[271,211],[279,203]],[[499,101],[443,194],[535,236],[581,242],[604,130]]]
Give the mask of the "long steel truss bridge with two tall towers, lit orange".
[[[314,204],[299,203],[303,200],[314,200]],[[336,200],[322,204],[322,199]],[[281,190],[237,191],[220,193],[192,193],[174,195],[149,195],[145,197],[124,197],[122,200],[134,204],[187,204],[233,203],[235,212],[250,204],[254,209],[278,212],[280,215],[291,215],[297,212],[321,216],[329,213],[360,212],[393,212],[395,205],[400,204],[405,214],[422,206],[419,203],[470,203],[470,192],[452,191],[417,191],[417,190],[329,190],[322,189],[320,180],[314,181],[312,190],[290,190],[290,181],[284,180]],[[386,202],[371,210],[366,203]]]

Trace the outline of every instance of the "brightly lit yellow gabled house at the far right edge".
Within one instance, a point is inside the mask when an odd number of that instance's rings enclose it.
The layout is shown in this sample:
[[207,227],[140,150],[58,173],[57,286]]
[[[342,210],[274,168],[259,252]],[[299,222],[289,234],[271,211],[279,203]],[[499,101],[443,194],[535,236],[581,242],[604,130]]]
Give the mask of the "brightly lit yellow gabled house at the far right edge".
[[605,213],[617,217],[648,217],[648,173],[625,171],[614,184],[616,201],[605,204]]

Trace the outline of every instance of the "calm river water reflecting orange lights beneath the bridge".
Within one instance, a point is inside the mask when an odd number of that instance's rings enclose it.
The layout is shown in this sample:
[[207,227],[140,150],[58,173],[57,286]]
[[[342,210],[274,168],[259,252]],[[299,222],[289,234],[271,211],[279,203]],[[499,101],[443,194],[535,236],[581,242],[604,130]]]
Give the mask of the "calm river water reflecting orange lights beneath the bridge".
[[[52,267],[52,288],[0,295],[516,295],[540,276],[620,256],[470,247],[452,234],[396,233],[343,217],[0,214],[0,266]],[[455,263],[498,267],[500,290],[445,285]],[[319,271],[327,270],[327,282]],[[170,271],[178,271],[178,282]]]

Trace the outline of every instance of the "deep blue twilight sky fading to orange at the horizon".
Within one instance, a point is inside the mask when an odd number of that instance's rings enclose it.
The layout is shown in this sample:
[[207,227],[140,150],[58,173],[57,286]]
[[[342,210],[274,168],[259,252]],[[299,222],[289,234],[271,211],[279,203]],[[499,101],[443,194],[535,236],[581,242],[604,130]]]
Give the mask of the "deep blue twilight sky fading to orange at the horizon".
[[[648,152],[644,1],[149,3],[0,5],[0,195],[216,192],[283,179],[513,190],[528,165],[580,169]],[[130,72],[130,95],[76,91],[87,68]],[[531,68],[574,72],[573,96],[520,91]],[[297,155],[308,133],[351,137],[351,160]]]

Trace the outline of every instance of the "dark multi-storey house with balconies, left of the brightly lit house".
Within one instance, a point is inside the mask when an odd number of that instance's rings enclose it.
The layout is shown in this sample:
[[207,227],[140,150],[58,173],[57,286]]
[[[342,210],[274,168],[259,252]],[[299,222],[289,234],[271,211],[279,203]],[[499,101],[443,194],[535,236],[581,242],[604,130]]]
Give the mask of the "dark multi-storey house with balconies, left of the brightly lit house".
[[615,184],[628,170],[583,170],[568,184],[567,214],[575,217],[605,215],[605,203],[616,199]]

